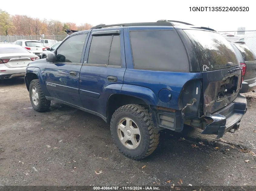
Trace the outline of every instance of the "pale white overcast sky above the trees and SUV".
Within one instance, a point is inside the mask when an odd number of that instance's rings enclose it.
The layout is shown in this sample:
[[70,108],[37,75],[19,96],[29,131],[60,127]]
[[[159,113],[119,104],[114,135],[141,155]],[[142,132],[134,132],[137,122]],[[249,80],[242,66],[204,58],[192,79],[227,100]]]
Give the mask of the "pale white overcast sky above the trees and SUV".
[[[97,24],[178,20],[217,31],[256,30],[256,6],[252,0],[97,0],[97,1],[4,1],[1,9],[9,14],[26,14],[34,18]],[[30,6],[31,5],[31,6]],[[249,7],[249,11],[190,11],[189,7]]]

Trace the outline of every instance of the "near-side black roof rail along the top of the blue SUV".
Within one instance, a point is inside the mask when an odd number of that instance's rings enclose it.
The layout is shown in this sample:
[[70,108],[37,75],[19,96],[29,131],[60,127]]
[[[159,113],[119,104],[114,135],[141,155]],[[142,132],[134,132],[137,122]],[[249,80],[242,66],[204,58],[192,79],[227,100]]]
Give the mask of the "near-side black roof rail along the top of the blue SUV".
[[91,29],[100,29],[100,28],[107,28],[107,27],[134,27],[134,26],[174,26],[174,24],[170,22],[145,22],[145,23],[121,23],[121,24],[99,24],[95,27],[91,27]]

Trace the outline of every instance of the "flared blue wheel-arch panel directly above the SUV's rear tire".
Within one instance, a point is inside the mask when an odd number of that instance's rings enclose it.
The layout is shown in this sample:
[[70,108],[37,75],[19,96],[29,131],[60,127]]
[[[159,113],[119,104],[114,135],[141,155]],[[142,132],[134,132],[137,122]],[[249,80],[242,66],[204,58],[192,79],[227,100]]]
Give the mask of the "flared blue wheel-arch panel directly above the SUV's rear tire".
[[123,84],[121,88],[121,94],[140,98],[148,105],[154,105],[154,106],[158,105],[157,97],[155,96],[154,92],[149,88],[136,86],[136,85]]

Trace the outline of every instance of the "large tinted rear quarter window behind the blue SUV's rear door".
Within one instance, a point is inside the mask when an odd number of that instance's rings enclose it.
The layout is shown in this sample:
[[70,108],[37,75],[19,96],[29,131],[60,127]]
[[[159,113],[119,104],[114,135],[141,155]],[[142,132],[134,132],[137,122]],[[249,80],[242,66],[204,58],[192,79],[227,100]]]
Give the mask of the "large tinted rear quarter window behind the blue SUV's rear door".
[[131,31],[135,69],[189,72],[185,47],[174,30]]

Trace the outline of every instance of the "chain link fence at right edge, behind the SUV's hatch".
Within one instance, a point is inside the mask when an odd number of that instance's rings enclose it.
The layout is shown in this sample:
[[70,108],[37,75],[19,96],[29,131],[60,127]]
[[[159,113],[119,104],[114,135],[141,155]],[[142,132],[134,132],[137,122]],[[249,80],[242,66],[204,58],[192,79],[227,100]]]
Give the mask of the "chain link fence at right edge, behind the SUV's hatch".
[[244,34],[239,34],[237,31],[219,31],[219,33],[229,42],[244,41],[256,55],[256,30],[246,30]]

